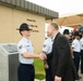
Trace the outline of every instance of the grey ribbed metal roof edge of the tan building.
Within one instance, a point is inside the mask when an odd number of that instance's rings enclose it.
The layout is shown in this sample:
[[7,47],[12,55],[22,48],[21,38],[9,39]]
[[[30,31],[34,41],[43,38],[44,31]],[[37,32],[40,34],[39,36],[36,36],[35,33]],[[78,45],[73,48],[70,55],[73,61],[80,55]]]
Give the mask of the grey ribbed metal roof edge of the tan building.
[[25,0],[0,0],[0,4],[5,4],[12,8],[26,10],[31,13],[43,15],[46,19],[58,18],[59,16],[58,12],[51,11],[49,9],[46,9],[44,6],[37,5]]

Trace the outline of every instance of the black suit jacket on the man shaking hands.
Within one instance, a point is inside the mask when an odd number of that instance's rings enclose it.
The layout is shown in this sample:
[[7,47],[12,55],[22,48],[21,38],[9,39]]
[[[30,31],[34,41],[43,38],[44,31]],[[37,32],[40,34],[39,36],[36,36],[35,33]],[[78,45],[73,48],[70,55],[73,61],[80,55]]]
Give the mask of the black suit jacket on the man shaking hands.
[[71,57],[70,45],[68,39],[61,33],[57,33],[52,52],[47,55],[51,58],[52,78],[61,77],[62,81],[74,81],[78,79],[76,69]]

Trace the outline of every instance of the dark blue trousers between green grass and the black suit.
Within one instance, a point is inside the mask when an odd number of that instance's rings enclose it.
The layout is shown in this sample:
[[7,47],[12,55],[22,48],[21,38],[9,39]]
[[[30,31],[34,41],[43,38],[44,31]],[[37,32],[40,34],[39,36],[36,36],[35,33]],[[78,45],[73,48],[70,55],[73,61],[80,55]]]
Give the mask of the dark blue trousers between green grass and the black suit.
[[46,81],[52,81],[52,72],[51,72],[51,60],[47,59],[47,64],[49,66],[48,69],[45,69],[46,72]]

